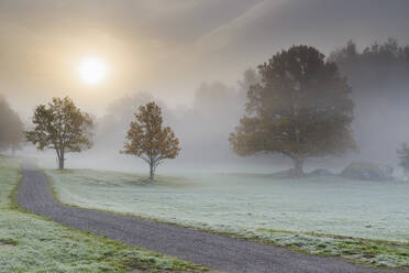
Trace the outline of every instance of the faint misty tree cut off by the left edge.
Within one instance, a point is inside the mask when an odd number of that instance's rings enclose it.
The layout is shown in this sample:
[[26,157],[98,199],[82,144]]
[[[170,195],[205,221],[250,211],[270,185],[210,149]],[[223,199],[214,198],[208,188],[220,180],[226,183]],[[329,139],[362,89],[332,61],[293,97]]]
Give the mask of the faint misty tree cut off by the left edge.
[[24,127],[3,97],[0,96],[0,151],[21,149],[24,141]]

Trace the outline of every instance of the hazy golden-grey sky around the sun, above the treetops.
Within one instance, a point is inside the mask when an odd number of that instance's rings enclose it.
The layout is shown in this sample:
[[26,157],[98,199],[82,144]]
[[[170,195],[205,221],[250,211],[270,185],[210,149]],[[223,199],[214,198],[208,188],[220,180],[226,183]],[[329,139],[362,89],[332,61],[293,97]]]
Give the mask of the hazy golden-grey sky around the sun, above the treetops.
[[[0,0],[0,92],[21,114],[65,95],[95,114],[139,90],[181,105],[291,44],[408,44],[408,14],[407,0]],[[95,86],[87,56],[108,67]]]

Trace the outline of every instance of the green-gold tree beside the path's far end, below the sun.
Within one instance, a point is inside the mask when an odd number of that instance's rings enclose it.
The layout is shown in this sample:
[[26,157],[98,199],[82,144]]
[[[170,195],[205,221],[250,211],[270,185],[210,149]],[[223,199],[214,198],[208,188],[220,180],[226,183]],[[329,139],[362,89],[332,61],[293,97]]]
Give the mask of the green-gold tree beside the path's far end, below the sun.
[[40,105],[34,110],[34,130],[25,133],[27,141],[38,150],[54,149],[58,167],[64,168],[65,154],[81,152],[92,146],[92,119],[65,97],[53,98],[48,105]]

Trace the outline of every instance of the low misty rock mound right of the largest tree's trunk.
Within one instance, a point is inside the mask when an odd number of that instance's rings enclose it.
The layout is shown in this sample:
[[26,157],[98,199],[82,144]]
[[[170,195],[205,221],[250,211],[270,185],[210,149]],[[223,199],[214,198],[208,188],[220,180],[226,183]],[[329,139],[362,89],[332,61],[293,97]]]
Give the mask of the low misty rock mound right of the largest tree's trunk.
[[391,166],[353,162],[341,172],[341,176],[360,181],[390,181],[394,178],[393,173]]

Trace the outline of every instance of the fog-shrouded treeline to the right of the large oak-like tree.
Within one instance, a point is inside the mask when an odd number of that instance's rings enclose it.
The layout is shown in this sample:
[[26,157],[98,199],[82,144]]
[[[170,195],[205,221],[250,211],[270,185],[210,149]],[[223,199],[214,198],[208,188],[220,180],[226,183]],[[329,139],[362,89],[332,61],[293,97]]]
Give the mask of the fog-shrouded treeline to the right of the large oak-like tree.
[[391,148],[409,139],[409,46],[389,39],[360,51],[350,41],[329,59],[352,87],[353,131],[362,156],[396,160]]

